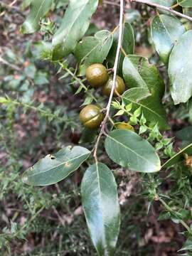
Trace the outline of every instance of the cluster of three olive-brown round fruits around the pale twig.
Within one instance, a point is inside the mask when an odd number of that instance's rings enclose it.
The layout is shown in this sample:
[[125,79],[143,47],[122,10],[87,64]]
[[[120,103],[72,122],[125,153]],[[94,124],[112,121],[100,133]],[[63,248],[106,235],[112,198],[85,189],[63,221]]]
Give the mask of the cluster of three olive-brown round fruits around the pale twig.
[[[91,87],[97,88],[102,87],[102,94],[110,96],[113,84],[113,78],[108,74],[107,68],[104,65],[96,63],[90,65],[86,70],[87,82]],[[124,80],[117,75],[114,97],[122,95],[125,90]],[[80,112],[80,121],[82,124],[90,129],[95,129],[102,123],[103,114],[100,107],[95,105],[87,105]]]

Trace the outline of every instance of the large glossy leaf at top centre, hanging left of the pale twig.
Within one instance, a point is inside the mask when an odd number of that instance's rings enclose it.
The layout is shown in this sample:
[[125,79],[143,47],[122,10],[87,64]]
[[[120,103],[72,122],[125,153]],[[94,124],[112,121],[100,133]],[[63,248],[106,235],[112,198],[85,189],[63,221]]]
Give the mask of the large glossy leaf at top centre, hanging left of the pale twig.
[[53,36],[53,60],[60,60],[73,52],[89,28],[97,5],[98,0],[70,1],[60,28]]

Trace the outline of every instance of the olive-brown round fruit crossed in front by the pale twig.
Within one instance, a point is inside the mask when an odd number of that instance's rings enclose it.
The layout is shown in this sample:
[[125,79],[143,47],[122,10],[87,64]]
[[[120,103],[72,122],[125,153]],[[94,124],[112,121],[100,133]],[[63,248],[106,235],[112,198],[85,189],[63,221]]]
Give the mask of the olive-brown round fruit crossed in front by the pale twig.
[[[110,96],[110,93],[112,90],[112,83],[113,83],[113,78],[110,77],[110,79],[102,88],[102,93],[104,95]],[[119,75],[117,75],[113,96],[117,97],[119,95],[122,95],[124,90],[125,90],[124,80],[122,80],[122,78],[120,78]]]

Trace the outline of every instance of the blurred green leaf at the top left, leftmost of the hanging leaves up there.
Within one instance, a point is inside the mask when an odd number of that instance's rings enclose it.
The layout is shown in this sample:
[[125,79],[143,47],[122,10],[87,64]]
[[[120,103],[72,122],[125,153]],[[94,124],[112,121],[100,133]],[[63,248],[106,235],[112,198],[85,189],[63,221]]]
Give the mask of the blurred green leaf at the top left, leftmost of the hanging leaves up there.
[[21,26],[21,33],[34,33],[39,30],[39,21],[45,16],[52,5],[52,0],[32,0],[30,13]]

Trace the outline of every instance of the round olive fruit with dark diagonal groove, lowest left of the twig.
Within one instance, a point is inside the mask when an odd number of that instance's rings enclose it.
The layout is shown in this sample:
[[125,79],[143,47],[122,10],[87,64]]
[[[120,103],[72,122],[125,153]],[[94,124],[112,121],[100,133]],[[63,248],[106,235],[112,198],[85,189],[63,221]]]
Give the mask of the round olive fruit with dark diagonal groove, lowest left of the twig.
[[87,105],[80,112],[80,122],[90,129],[95,129],[102,123],[103,114],[100,112],[100,107],[95,105]]

